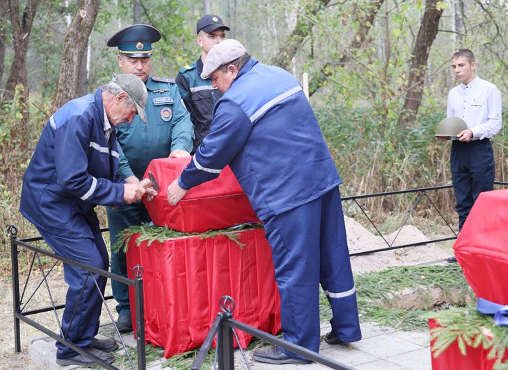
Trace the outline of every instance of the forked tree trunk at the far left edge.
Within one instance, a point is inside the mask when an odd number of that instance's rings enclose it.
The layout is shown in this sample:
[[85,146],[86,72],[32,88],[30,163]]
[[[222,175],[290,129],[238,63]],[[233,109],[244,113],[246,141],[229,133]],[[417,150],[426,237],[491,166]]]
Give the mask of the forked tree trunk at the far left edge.
[[22,124],[29,119],[28,87],[26,85],[26,49],[29,46],[30,31],[33,17],[37,11],[39,0],[28,0],[20,17],[19,0],[9,0],[10,25],[13,30],[14,59],[10,66],[10,74],[6,83],[6,94],[4,99],[13,99],[16,86],[22,85],[19,90],[19,107],[22,112]]

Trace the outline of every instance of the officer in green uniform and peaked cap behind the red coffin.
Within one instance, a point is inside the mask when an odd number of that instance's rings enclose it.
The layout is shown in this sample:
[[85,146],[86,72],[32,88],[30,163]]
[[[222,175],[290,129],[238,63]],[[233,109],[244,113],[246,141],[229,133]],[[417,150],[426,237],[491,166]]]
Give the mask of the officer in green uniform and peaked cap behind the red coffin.
[[[125,178],[127,183],[138,183],[152,159],[186,157],[192,150],[194,128],[175,80],[150,76],[152,43],[160,38],[157,28],[134,24],[118,31],[107,42],[109,47],[118,47],[122,73],[135,74],[148,90],[147,123],[136,116],[132,124],[120,124],[116,128],[120,152],[118,177]],[[125,228],[151,221],[141,202],[107,208],[107,212],[111,245],[118,242],[117,235]],[[111,251],[111,272],[127,276],[123,249]],[[118,281],[112,281],[111,285],[118,302],[118,330],[125,333],[132,330],[129,289]]]

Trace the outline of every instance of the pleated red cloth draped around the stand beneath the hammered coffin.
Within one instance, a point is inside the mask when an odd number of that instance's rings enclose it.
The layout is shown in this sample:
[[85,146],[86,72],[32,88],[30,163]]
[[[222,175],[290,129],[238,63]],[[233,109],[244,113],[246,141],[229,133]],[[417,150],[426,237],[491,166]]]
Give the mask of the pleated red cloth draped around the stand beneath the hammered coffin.
[[[145,339],[164,347],[166,358],[203,344],[225,294],[235,299],[234,319],[273,335],[280,332],[280,296],[264,230],[238,233],[243,249],[222,235],[150,246],[136,246],[137,235],[130,239],[129,278],[134,278],[136,264],[144,269]],[[129,287],[129,295],[136,333],[134,287]],[[251,342],[251,335],[239,330],[237,335],[242,347]]]

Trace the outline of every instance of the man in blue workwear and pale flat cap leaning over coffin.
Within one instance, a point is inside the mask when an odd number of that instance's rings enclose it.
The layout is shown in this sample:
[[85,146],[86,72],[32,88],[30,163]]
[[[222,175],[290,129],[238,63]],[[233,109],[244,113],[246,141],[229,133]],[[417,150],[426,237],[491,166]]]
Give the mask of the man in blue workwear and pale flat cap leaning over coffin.
[[[264,221],[280,292],[284,338],[319,351],[319,283],[333,310],[331,344],[361,339],[338,185],[342,182],[298,81],[262,65],[237,40],[209,52],[203,78],[224,93],[210,133],[168,187],[175,205],[230,165]],[[309,361],[283,348],[255,351],[270,364]]]

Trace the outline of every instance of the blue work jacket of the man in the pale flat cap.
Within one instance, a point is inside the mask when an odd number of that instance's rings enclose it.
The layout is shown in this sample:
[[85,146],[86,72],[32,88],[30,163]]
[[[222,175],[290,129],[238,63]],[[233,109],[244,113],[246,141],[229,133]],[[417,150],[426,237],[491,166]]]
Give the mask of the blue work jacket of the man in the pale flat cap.
[[230,165],[259,219],[317,199],[341,183],[298,81],[253,58],[216,103],[210,133],[179,185],[189,189]]

